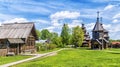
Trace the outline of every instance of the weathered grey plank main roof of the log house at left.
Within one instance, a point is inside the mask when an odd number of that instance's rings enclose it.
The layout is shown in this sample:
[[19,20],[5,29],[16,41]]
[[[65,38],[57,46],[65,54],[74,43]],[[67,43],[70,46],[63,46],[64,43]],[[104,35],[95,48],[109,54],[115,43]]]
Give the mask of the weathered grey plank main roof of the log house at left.
[[30,33],[37,39],[34,23],[7,23],[0,27],[0,39],[27,38]]

